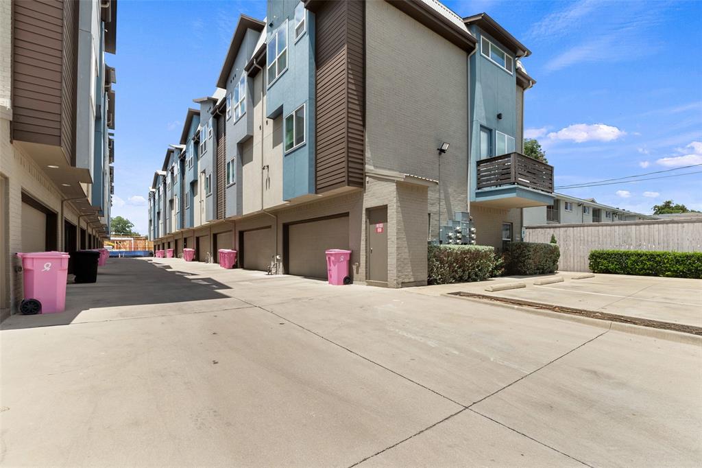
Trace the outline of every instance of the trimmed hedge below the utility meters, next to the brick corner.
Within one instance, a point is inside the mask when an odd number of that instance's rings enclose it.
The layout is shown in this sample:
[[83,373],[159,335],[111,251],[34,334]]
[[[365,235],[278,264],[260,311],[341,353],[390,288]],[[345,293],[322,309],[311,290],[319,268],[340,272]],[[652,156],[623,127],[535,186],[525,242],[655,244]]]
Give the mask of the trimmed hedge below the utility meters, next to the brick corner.
[[486,245],[429,245],[428,283],[482,281],[502,272],[502,260]]

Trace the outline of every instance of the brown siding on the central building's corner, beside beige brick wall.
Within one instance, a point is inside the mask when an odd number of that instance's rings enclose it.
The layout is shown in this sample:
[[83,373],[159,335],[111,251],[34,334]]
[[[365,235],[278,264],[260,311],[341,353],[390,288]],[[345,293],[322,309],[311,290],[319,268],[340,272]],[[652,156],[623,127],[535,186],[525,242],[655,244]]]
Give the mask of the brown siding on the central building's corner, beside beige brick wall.
[[364,186],[364,1],[329,1],[316,13],[315,188]]

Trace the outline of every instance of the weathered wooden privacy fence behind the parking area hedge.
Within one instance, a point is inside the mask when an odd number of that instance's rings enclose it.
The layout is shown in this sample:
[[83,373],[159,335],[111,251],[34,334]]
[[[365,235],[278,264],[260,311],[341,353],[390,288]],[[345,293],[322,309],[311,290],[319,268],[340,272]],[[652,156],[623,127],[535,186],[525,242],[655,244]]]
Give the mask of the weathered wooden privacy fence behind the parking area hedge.
[[560,271],[590,271],[591,250],[702,252],[702,219],[526,226],[525,242],[550,242],[561,251]]

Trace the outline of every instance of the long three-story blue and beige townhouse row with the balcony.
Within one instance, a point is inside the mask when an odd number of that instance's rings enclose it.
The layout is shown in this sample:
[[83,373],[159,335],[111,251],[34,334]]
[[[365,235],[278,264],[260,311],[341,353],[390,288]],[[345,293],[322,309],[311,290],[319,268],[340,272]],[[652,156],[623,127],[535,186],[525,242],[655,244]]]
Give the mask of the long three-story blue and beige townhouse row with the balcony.
[[192,224],[164,226],[164,164],[150,236],[312,278],[325,249],[350,249],[352,279],[388,287],[426,283],[428,242],[501,248],[504,222],[554,200],[553,168],[520,153],[529,54],[435,0],[269,1],[195,100]]

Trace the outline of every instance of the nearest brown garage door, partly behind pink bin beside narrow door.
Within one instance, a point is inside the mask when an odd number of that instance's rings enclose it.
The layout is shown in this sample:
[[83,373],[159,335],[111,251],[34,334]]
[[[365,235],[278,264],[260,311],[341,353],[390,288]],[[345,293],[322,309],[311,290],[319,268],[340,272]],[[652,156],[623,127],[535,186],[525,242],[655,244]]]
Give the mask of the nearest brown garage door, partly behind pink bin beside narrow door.
[[349,248],[349,219],[323,219],[288,226],[290,275],[326,278],[326,249]]

